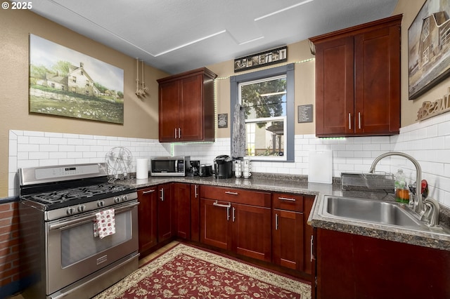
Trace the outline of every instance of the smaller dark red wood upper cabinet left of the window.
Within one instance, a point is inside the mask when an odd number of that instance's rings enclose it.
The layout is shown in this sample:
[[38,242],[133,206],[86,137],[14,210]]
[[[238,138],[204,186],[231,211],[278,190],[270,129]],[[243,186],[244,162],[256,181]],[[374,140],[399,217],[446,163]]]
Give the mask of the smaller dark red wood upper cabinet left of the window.
[[160,142],[214,141],[214,79],[203,67],[158,79]]

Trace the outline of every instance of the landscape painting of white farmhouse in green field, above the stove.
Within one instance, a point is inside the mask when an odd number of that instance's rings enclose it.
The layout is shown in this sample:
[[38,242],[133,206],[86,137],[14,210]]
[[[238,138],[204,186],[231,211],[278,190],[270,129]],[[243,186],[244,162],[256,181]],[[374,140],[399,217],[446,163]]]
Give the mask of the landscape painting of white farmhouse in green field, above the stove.
[[30,112],[124,123],[124,71],[30,34]]

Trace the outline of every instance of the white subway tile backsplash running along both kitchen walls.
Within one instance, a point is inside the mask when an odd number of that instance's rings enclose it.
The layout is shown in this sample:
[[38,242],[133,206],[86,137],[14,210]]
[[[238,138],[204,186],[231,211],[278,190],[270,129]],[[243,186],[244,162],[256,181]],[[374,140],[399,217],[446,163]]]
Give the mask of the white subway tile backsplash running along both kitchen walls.
[[[342,171],[368,172],[380,154],[399,151],[410,154],[422,166],[422,176],[430,185],[430,196],[450,206],[450,113],[401,128],[399,135],[354,138],[316,138],[314,134],[295,135],[295,162],[252,163],[253,172],[307,175],[309,151],[333,150],[333,176]],[[113,147],[127,147],[133,157],[190,155],[200,163],[211,164],[219,154],[231,153],[231,139],[215,142],[161,144],[158,140],[116,136],[78,135],[11,130],[9,132],[8,194],[15,194],[19,167],[103,162]],[[376,171],[396,173],[397,168],[415,179],[413,165],[401,157],[382,159]]]

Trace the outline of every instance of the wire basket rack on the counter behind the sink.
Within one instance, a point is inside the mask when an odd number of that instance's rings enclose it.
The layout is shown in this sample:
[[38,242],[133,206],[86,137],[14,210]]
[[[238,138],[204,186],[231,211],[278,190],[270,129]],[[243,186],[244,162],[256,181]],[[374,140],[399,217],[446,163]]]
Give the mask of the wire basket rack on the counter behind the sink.
[[341,173],[342,190],[393,190],[392,173]]

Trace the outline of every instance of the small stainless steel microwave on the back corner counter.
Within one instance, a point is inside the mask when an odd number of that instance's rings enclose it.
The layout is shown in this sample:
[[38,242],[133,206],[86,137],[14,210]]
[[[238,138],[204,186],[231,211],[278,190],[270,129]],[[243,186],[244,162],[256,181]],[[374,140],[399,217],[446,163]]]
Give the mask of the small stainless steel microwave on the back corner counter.
[[185,176],[190,167],[191,156],[150,158],[152,176]]

